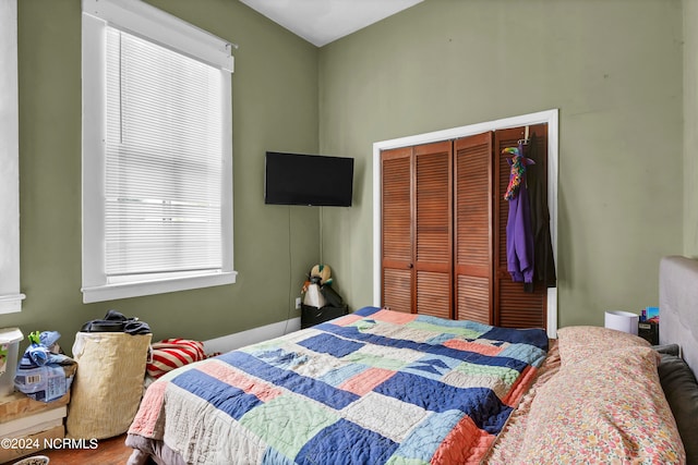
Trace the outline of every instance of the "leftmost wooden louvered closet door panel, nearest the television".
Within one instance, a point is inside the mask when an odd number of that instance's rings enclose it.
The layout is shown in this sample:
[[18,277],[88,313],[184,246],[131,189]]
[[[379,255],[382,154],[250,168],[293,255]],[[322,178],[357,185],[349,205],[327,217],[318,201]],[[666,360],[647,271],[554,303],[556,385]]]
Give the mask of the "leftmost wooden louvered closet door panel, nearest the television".
[[412,148],[381,152],[382,302],[396,311],[413,311]]

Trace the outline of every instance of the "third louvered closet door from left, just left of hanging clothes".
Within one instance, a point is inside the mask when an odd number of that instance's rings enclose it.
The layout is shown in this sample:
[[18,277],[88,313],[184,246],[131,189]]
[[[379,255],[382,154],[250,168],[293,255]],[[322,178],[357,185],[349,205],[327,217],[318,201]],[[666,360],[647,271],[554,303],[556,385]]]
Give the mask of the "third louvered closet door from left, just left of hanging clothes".
[[492,133],[455,142],[455,317],[492,323]]

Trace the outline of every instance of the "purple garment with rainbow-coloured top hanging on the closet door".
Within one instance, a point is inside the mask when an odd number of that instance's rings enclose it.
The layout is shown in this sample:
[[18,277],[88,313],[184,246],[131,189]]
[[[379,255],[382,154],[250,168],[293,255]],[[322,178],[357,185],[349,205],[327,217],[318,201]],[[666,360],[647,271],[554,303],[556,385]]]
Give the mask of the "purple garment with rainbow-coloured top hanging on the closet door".
[[526,185],[526,167],[534,164],[524,157],[524,147],[505,148],[503,152],[513,155],[507,161],[512,166],[509,185],[504,198],[509,201],[509,216],[506,224],[507,271],[515,282],[524,282],[527,292],[533,291],[533,234],[531,212]]

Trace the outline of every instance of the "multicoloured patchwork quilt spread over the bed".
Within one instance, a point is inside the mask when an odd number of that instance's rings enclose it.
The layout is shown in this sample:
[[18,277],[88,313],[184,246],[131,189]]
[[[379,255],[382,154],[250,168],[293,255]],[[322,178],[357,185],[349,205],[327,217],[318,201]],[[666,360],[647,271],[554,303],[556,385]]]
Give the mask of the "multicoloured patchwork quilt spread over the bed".
[[543,330],[365,307],[171,371],[129,430],[196,464],[478,463]]

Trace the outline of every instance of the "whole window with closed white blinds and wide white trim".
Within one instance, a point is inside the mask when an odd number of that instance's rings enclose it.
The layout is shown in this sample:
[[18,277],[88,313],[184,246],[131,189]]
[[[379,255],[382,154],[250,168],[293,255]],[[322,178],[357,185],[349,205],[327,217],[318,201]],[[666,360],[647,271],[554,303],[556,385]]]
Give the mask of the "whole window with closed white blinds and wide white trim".
[[233,283],[230,44],[83,1],[83,301]]

